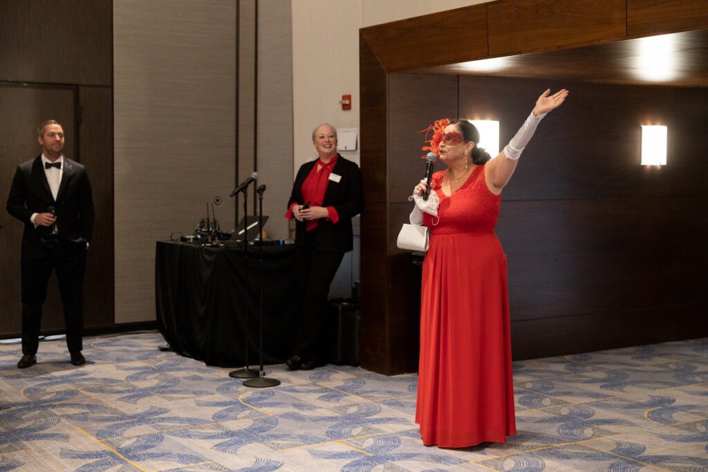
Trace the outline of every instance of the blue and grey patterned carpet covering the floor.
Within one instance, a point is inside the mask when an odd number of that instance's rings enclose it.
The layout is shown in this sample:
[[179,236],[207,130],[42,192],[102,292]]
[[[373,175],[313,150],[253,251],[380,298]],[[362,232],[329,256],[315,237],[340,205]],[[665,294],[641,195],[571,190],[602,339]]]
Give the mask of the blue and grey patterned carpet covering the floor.
[[290,372],[249,388],[161,352],[156,332],[0,343],[0,471],[705,471],[708,339],[514,364],[518,435],[439,449],[413,422],[416,375]]

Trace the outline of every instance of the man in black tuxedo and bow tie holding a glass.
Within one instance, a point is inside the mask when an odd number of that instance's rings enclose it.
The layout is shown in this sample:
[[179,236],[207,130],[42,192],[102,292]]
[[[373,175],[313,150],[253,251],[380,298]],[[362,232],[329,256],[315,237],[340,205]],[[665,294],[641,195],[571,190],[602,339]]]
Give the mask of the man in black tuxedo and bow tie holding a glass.
[[86,168],[67,159],[64,129],[49,120],[37,130],[42,154],[21,163],[7,200],[7,211],[25,224],[22,236],[23,369],[37,362],[42,304],[52,270],[64,304],[67,346],[72,364],[86,363],[81,331],[86,250],[93,231],[93,198]]

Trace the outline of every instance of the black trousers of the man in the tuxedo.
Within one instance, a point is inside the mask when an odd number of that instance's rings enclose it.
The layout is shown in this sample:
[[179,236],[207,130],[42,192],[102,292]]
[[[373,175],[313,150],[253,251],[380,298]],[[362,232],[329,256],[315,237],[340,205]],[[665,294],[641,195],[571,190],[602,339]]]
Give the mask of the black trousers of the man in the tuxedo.
[[43,259],[25,259],[22,272],[22,353],[35,355],[39,347],[42,304],[47,298],[47,285],[52,270],[57,272],[59,294],[64,305],[64,324],[69,352],[83,348],[84,272],[86,251],[79,254],[49,254]]

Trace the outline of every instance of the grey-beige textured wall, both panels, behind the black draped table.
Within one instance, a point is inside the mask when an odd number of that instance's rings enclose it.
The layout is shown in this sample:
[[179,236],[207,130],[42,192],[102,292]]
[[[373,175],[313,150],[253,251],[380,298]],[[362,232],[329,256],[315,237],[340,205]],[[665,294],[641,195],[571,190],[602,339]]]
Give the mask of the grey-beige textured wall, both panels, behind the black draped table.
[[[191,234],[216,196],[222,230],[234,229],[242,197],[229,193],[254,170],[268,186],[265,230],[287,237],[290,0],[258,3],[254,140],[255,6],[253,0],[114,1],[116,323],[155,318],[155,241]],[[255,203],[251,191],[249,215]]]

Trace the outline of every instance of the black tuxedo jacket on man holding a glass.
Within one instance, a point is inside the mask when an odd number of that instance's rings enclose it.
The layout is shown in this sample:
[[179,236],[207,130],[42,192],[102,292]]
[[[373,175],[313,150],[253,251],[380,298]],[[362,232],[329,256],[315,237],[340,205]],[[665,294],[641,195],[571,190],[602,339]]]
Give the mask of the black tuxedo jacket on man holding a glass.
[[57,200],[52,197],[42,156],[17,166],[7,200],[7,211],[25,224],[22,235],[22,258],[43,258],[47,248],[42,244],[42,234],[51,231],[49,226],[37,226],[30,221],[33,213],[43,213],[55,207],[57,229],[62,247],[70,252],[86,249],[93,232],[93,197],[86,167],[64,156],[62,181]]

